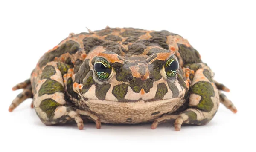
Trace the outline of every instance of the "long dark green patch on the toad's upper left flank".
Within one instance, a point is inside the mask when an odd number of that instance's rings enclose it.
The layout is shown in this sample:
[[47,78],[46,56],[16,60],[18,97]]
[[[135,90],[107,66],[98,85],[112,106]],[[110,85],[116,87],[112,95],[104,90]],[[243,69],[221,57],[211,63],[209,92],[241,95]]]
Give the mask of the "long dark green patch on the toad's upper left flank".
[[55,57],[60,57],[61,54],[75,54],[78,50],[79,44],[75,41],[69,40],[66,43],[59,46],[56,50],[45,53],[39,61],[39,67],[42,67],[46,65],[48,62],[53,61]]

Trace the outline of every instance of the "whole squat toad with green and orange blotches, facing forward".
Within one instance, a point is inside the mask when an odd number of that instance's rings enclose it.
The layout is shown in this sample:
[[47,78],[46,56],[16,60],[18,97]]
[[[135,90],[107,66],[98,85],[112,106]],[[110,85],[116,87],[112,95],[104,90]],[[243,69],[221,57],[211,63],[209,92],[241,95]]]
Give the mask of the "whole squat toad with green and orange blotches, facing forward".
[[213,80],[213,72],[183,37],[168,31],[106,28],[70,34],[39,60],[30,80],[13,90],[12,111],[26,98],[46,125],[83,119],[100,123],[166,120],[206,124],[219,102],[233,112],[235,106]]

